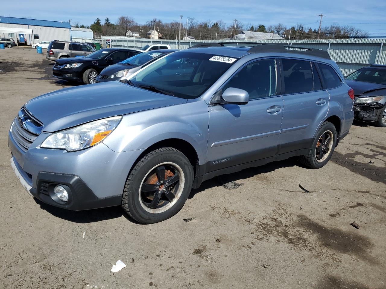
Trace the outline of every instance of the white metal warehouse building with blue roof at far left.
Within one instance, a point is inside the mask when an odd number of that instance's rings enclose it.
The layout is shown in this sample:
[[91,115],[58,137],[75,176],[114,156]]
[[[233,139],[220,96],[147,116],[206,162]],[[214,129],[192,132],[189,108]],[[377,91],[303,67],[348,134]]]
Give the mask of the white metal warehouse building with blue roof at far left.
[[0,37],[12,37],[15,41],[27,42],[27,45],[55,39],[71,40],[71,25],[68,22],[1,16]]

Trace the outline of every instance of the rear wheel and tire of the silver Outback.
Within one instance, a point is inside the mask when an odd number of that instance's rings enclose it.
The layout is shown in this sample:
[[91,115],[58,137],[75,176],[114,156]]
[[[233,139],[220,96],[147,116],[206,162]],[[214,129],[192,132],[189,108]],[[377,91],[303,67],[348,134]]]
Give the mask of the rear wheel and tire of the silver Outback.
[[336,143],[337,130],[334,124],[325,121],[318,129],[308,155],[301,156],[300,162],[308,168],[322,168],[334,153]]

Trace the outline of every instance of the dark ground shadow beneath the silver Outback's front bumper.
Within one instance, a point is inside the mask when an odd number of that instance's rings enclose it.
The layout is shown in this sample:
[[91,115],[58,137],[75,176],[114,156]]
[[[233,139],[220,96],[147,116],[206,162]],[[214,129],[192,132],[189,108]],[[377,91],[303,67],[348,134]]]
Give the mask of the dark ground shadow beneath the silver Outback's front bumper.
[[67,220],[73,223],[94,223],[105,220],[111,220],[115,218],[125,217],[132,223],[139,224],[128,215],[126,215],[120,206],[108,207],[108,208],[100,208],[93,210],[84,210],[84,211],[71,211],[65,210],[62,208],[54,207],[52,205],[48,205],[43,203],[41,200],[34,198],[34,201],[40,206],[42,210],[50,213],[51,215],[61,218],[63,220]]

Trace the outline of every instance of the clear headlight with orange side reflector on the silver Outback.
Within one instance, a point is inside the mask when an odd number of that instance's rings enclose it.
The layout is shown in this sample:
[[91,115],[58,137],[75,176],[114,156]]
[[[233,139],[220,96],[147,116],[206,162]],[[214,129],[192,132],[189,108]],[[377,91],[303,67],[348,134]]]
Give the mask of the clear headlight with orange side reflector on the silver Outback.
[[117,127],[122,116],[104,118],[49,135],[41,148],[79,151],[100,143]]

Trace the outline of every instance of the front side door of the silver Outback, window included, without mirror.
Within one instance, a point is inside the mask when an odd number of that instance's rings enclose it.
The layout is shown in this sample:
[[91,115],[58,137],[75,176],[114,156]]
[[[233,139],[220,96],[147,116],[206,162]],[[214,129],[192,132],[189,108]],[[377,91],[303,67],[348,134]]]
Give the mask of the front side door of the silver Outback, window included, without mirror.
[[208,107],[207,172],[275,155],[284,106],[277,67],[276,59],[250,62],[217,92],[244,89],[249,102]]

